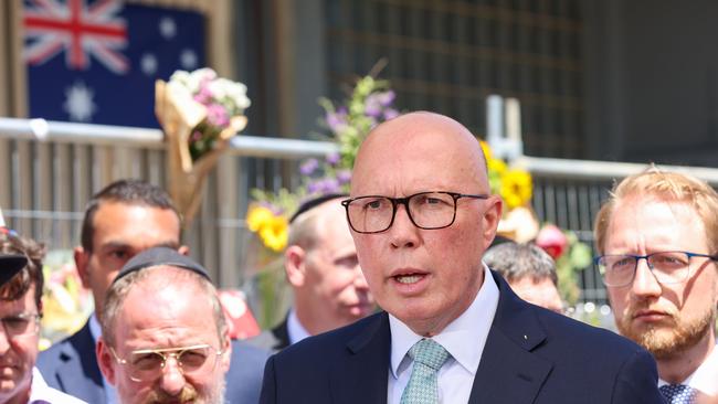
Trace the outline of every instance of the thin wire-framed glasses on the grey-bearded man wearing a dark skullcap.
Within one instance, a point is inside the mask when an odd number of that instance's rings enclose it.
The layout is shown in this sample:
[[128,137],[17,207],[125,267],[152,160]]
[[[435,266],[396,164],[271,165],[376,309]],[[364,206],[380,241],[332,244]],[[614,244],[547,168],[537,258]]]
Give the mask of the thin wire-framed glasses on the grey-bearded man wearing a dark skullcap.
[[126,366],[129,379],[135,382],[147,382],[158,379],[165,371],[167,361],[171,358],[183,375],[213,369],[219,357],[224,351],[201,343],[181,348],[139,349],[131,351],[128,358],[119,358],[109,347],[117,363]]

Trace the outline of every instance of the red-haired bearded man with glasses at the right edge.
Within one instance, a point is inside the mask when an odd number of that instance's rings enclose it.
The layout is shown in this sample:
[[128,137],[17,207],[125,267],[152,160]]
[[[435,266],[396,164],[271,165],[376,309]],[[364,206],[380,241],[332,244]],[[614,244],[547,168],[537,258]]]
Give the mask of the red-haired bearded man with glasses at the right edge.
[[595,240],[619,331],[653,353],[668,403],[718,395],[718,193],[652,167],[614,187]]

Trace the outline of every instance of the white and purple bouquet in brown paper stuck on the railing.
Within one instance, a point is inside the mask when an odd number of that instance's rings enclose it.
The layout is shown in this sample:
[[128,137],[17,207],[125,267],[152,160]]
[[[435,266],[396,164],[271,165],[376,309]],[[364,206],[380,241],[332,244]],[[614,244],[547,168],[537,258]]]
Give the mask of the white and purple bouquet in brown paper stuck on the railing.
[[169,141],[169,191],[189,223],[205,177],[229,139],[246,126],[246,86],[200,68],[157,81],[155,93],[155,113]]

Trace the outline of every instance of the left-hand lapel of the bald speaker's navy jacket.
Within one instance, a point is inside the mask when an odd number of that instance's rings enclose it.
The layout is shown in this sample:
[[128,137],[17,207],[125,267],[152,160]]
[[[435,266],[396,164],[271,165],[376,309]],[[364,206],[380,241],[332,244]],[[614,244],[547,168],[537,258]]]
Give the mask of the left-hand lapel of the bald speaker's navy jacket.
[[386,404],[390,345],[389,316],[374,315],[368,327],[349,340],[346,355],[330,369],[331,402]]

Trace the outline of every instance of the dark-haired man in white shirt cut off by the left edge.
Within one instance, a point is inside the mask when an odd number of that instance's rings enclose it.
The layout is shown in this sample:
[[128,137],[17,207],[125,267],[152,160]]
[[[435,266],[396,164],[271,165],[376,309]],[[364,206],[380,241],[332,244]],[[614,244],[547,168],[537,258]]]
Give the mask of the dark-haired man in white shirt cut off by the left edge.
[[47,386],[34,368],[42,316],[44,246],[21,236],[3,236],[0,254],[25,258],[20,272],[0,286],[0,403],[82,403]]

